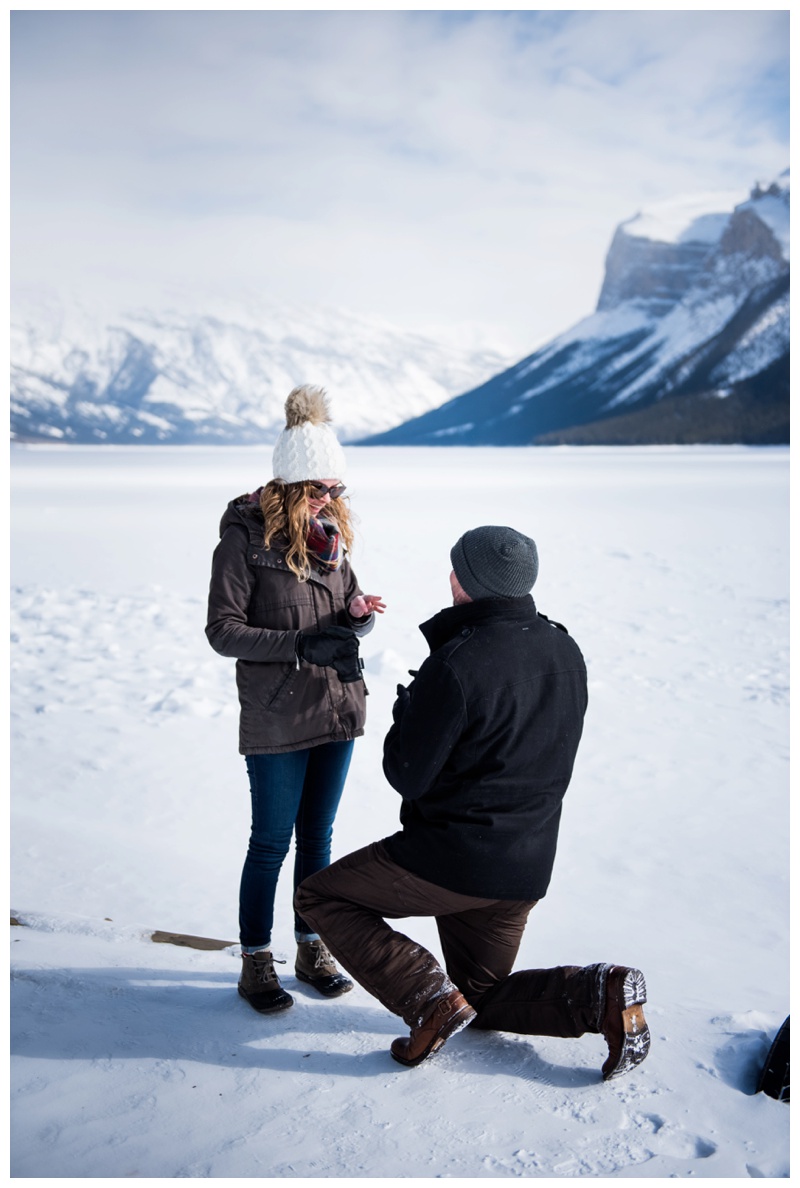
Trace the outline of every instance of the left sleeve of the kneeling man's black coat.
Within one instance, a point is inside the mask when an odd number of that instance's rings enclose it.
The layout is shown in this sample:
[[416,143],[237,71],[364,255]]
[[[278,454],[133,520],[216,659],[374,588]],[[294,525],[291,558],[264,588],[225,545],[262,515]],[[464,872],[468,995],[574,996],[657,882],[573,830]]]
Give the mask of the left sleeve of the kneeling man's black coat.
[[433,786],[464,732],[464,690],[451,666],[429,656],[392,713],[383,770],[392,788],[412,801]]

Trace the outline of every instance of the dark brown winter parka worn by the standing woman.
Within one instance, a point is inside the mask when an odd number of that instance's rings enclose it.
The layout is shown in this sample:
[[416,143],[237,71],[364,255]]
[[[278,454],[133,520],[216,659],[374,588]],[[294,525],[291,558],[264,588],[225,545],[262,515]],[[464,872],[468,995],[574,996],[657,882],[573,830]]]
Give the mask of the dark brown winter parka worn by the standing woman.
[[300,751],[364,733],[364,682],[342,684],[333,668],[298,662],[295,640],[332,626],[366,634],[374,614],[354,619],[347,609],[361,593],[347,558],[301,582],[286,565],[286,544],[276,538],[264,546],[253,495],[228,504],[212,562],[206,636],[220,656],[237,661],[241,754]]

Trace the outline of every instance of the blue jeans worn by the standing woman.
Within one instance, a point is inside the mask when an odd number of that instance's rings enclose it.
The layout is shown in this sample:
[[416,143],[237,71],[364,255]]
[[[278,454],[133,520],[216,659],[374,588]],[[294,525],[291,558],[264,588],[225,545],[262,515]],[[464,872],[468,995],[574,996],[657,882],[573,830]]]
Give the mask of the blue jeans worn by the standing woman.
[[[330,865],[333,820],[339,808],[352,739],[305,751],[245,756],[253,822],[239,890],[239,940],[245,950],[272,939],[275,890],[295,833],[295,890]],[[316,934],[295,912],[295,935]]]

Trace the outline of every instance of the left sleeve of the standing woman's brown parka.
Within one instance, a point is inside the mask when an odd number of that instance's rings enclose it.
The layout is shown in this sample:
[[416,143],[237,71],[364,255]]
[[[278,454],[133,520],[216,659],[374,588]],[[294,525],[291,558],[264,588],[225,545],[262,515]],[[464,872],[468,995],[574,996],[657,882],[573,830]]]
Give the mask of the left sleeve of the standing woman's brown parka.
[[214,550],[206,636],[220,656],[262,663],[294,663],[297,631],[251,627],[247,608],[256,575],[247,564],[246,533],[231,525]]

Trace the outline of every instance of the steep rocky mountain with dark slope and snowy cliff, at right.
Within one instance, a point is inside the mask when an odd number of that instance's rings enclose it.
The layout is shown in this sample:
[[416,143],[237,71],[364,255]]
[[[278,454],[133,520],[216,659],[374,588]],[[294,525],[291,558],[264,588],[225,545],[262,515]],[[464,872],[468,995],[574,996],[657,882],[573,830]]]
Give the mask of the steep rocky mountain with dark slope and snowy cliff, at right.
[[617,228],[597,311],[368,444],[787,442],[789,173]]

